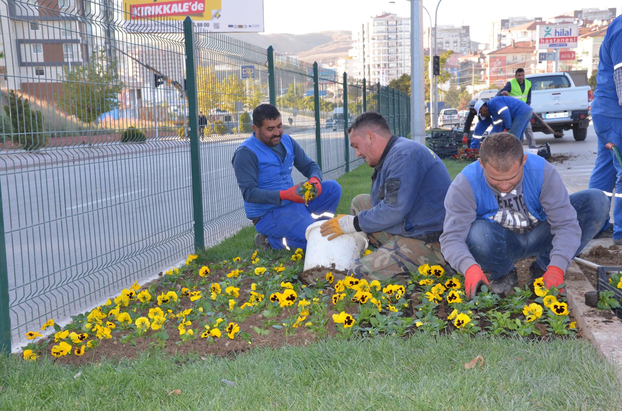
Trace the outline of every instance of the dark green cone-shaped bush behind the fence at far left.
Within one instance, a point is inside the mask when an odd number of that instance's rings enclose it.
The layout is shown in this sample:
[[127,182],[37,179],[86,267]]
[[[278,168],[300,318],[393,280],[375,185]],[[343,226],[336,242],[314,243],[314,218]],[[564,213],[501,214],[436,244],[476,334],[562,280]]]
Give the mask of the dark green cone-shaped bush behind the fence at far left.
[[39,150],[47,145],[48,138],[43,133],[43,114],[30,109],[28,99],[22,99],[14,91],[9,91],[9,104],[4,106],[4,112],[11,119],[13,143],[29,151]]

